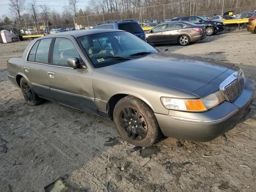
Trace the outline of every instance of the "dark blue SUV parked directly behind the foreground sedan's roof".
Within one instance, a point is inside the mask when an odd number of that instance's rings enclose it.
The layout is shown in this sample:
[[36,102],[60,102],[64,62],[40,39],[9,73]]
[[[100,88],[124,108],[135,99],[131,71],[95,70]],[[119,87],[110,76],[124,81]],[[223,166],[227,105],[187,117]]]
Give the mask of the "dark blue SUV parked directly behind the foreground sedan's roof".
[[145,33],[136,21],[110,21],[97,24],[94,29],[119,29],[130,32],[138,38],[145,40]]

